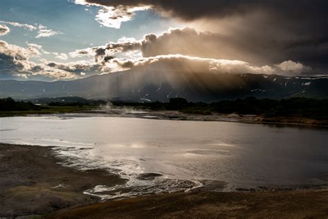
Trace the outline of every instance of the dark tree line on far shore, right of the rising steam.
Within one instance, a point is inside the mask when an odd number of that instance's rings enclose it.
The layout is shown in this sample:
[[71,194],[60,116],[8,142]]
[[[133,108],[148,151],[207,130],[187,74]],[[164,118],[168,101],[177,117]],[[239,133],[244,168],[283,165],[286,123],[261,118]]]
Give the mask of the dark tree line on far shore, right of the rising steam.
[[190,114],[256,114],[266,117],[302,116],[312,119],[328,119],[328,100],[313,98],[289,98],[282,100],[248,97],[221,100],[214,103],[192,103],[185,98],[170,98],[168,103],[129,103],[114,101],[116,106],[143,107],[152,110],[179,110]]

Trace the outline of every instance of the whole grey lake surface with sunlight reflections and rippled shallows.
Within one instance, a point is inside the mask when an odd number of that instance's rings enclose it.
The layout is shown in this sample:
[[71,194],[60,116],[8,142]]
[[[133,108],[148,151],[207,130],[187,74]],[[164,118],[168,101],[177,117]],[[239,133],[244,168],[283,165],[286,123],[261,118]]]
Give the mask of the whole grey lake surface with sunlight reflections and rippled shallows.
[[[82,115],[1,118],[0,125],[1,142],[60,146],[68,166],[107,167],[129,179],[124,188],[86,191],[102,198],[222,182],[226,189],[325,184],[328,172],[327,130]],[[160,175],[138,178],[143,173]]]

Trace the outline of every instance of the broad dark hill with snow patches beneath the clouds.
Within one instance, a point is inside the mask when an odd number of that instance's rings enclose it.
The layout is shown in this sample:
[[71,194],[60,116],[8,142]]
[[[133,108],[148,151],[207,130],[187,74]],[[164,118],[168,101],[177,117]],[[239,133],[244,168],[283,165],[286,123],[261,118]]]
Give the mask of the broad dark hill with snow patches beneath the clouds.
[[81,96],[111,100],[166,102],[183,97],[213,102],[245,98],[328,98],[328,77],[261,74],[179,73],[121,71],[71,81],[0,80],[0,98],[15,99]]

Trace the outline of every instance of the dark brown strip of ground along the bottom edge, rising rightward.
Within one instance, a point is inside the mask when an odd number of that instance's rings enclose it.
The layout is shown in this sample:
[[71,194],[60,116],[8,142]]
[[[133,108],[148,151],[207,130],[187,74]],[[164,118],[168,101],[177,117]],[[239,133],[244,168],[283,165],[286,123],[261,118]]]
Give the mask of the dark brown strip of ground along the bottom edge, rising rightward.
[[327,218],[328,191],[174,193],[91,204],[46,218]]

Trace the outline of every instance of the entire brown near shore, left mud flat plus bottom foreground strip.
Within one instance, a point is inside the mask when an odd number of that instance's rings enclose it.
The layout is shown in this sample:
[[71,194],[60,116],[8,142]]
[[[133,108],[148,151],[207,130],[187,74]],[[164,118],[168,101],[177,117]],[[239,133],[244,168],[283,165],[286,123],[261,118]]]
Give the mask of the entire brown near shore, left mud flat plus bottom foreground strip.
[[102,202],[83,191],[124,179],[106,170],[59,164],[52,148],[0,143],[0,217],[327,218],[328,190],[214,193],[195,191]]

